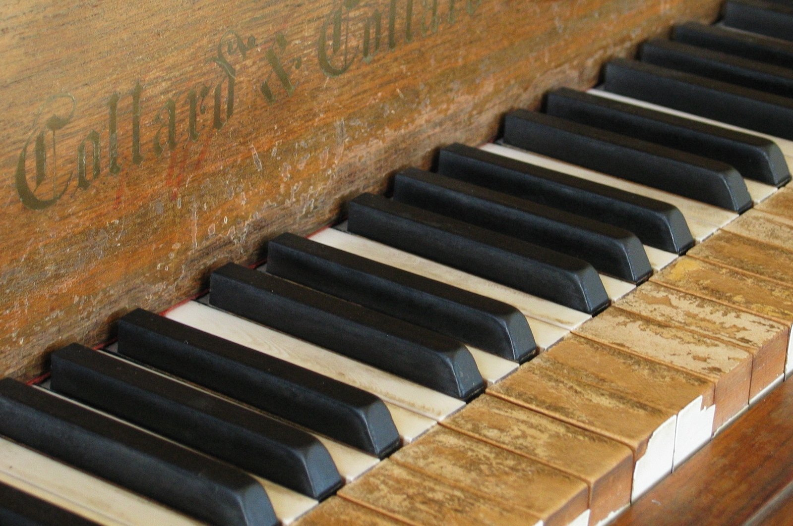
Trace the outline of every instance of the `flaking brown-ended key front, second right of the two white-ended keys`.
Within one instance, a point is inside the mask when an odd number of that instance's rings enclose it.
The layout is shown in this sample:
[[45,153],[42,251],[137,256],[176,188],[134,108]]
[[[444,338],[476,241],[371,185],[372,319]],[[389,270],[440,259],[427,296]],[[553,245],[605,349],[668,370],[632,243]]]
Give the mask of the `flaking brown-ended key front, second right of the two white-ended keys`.
[[782,323],[653,282],[643,284],[617,305],[752,353],[750,398],[784,372],[789,327]]

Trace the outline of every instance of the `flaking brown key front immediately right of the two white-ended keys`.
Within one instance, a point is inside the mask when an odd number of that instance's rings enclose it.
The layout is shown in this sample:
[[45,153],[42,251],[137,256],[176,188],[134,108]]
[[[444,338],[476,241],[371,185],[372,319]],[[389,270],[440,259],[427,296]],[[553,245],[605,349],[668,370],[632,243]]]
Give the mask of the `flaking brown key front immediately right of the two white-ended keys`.
[[713,382],[714,429],[749,404],[752,355],[734,345],[653,322],[619,307],[603,311],[575,332]]

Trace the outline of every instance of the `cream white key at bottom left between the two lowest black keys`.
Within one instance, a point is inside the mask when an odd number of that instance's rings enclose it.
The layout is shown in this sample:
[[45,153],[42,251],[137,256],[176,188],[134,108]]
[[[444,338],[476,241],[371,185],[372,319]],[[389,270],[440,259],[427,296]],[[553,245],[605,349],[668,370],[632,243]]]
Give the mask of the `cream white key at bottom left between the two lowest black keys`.
[[100,524],[203,524],[6,438],[0,438],[0,480]]

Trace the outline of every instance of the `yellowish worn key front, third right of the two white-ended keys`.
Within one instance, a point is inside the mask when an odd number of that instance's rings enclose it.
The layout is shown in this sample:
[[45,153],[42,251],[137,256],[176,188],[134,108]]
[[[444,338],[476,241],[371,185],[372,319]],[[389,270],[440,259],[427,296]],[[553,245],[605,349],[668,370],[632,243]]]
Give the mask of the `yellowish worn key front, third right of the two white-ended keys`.
[[[693,257],[681,257],[650,278],[670,288],[713,299],[764,318],[793,324],[793,288],[715,265]],[[785,375],[793,372],[793,345],[788,343]]]

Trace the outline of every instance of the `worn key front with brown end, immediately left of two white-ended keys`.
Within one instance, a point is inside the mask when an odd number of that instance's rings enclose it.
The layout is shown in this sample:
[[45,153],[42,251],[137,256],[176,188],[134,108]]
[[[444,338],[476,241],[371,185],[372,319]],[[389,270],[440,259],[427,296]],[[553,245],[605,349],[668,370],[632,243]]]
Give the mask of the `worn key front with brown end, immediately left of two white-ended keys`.
[[489,394],[440,425],[580,478],[589,487],[590,524],[630,503],[633,453],[615,440]]

